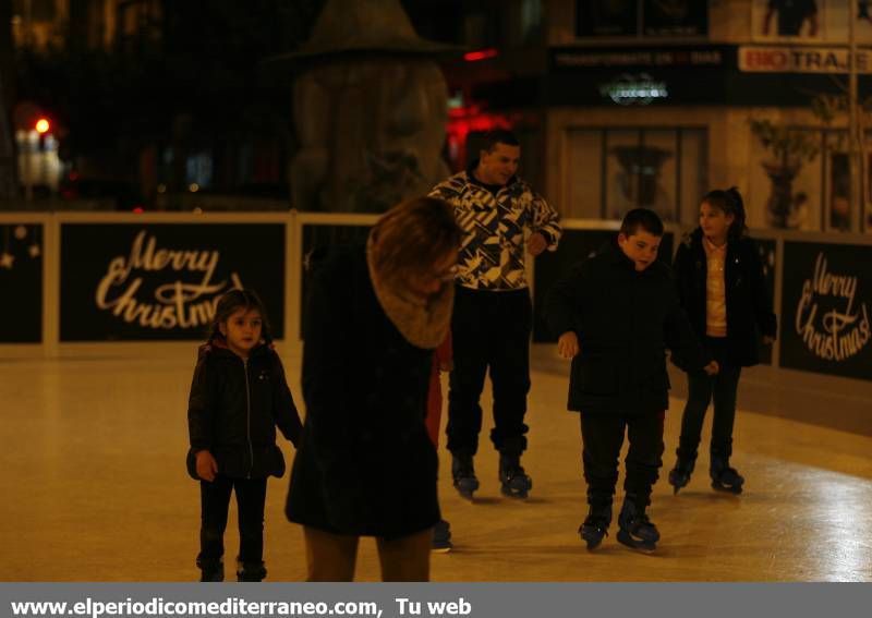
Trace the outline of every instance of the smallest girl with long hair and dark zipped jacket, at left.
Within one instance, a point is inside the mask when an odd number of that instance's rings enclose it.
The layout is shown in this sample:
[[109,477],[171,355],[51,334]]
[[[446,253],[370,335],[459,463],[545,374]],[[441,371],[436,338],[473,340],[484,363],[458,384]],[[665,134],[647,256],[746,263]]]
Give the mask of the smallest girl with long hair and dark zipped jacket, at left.
[[284,473],[276,425],[298,444],[302,424],[284,369],[271,347],[261,299],[223,294],[209,340],[199,348],[187,405],[187,472],[199,481],[201,581],[223,581],[223,534],[230,494],[239,508],[239,581],[261,581],[267,476]]

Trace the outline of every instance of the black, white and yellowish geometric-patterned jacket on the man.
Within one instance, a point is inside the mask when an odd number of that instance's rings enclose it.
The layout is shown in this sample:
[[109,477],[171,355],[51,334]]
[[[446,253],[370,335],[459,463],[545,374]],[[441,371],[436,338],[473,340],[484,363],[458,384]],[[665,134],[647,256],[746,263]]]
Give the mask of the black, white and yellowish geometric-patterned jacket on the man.
[[555,251],[560,240],[560,216],[529,184],[513,177],[496,195],[475,180],[472,169],[437,184],[431,196],[455,208],[463,230],[458,282],[475,290],[526,288],[524,231],[541,232]]

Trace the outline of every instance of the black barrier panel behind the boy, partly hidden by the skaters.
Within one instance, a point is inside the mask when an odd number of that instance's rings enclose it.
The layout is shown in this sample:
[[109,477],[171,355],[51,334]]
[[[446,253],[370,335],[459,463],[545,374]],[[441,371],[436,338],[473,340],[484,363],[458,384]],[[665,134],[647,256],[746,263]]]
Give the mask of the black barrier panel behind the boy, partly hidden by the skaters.
[[[533,291],[533,341],[546,343],[557,341],[557,335],[548,328],[542,317],[542,306],[548,290],[566,277],[577,263],[591,257],[617,237],[617,230],[564,230],[560,246],[554,253],[543,253],[535,262],[535,289]],[[671,264],[671,232],[661,242],[658,259]]]

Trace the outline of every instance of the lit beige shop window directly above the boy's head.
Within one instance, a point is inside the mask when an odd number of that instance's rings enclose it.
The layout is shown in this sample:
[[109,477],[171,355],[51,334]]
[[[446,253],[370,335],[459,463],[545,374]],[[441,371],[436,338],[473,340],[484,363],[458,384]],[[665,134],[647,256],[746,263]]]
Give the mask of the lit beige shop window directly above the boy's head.
[[564,216],[620,219],[651,208],[665,221],[693,223],[706,185],[704,129],[580,129],[569,132]]

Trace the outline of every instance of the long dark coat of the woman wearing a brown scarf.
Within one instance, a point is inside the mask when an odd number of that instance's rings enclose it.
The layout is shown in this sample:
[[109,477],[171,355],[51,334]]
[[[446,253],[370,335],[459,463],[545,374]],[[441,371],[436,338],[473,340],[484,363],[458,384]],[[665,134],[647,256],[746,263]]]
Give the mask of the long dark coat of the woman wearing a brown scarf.
[[306,420],[288,519],[380,537],[434,525],[437,458],[424,424],[433,350],[409,343],[385,314],[363,247],[317,265],[303,335]]

